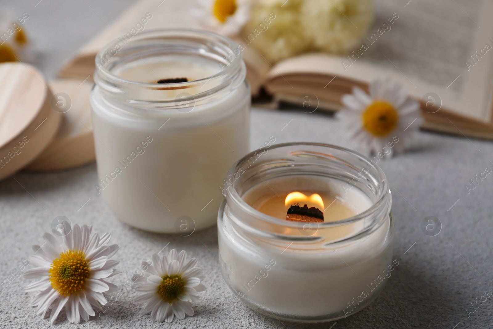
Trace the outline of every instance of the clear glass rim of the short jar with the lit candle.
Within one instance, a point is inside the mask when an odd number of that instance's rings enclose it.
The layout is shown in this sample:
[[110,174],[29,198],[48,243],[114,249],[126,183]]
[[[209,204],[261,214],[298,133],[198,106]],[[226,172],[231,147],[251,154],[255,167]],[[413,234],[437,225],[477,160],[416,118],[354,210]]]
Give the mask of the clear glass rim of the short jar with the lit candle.
[[[390,189],[388,188],[387,178],[386,178],[383,170],[377,164],[372,164],[371,160],[368,157],[364,156],[361,153],[353,151],[349,148],[346,148],[346,147],[335,146],[335,145],[324,144],[324,143],[309,143],[309,142],[282,143],[282,144],[278,144],[275,146],[270,146],[269,148],[270,149],[277,149],[277,148],[282,148],[282,147],[293,147],[293,146],[321,146],[321,147],[326,147],[328,149],[336,149],[336,150],[350,153],[353,156],[357,157],[359,160],[362,160],[363,162],[367,163],[372,168],[375,168],[375,170],[377,171],[377,174],[379,176],[379,181],[382,183],[381,186],[379,186],[379,190],[378,190],[379,197],[372,204],[372,206],[370,208],[368,208],[367,210],[365,210],[365,211],[363,211],[363,212],[361,212],[355,216],[347,218],[347,219],[340,219],[337,221],[317,223],[317,226],[319,228],[329,228],[329,227],[351,224],[351,223],[357,222],[361,219],[364,219],[366,217],[371,217],[373,214],[376,214],[379,211],[379,209],[381,207],[383,207],[384,204],[386,203],[387,197],[391,193]],[[234,175],[238,172],[239,168],[241,168],[241,164],[244,163],[247,159],[250,159],[252,156],[254,156],[254,154],[256,152],[258,152],[258,150],[252,151],[252,152],[246,154],[240,160],[238,160],[229,170],[227,178],[234,177]],[[228,181],[228,179],[226,179],[225,185],[228,184],[227,181]],[[262,221],[266,221],[268,223],[275,224],[275,225],[282,224],[282,225],[284,225],[286,227],[290,227],[290,228],[297,228],[299,225],[299,222],[282,220],[282,219],[264,214],[264,213],[260,212],[259,210],[253,208],[252,206],[250,206],[249,204],[247,204],[243,200],[243,198],[240,196],[240,194],[238,193],[236,188],[234,188],[234,186],[232,186],[232,185],[230,185],[228,187],[225,186],[223,195],[226,198],[226,202],[228,201],[228,199],[233,200],[236,205],[241,207],[242,211],[246,212],[246,214],[248,214],[249,216],[251,216],[253,218],[256,218],[256,219],[259,219]]]

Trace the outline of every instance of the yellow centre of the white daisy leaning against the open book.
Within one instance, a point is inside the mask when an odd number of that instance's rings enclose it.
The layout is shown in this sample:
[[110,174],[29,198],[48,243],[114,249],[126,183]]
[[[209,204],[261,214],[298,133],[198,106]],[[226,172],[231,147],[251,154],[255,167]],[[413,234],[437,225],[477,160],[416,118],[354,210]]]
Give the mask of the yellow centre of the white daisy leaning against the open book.
[[392,104],[375,101],[362,113],[363,127],[373,136],[390,134],[399,122],[399,114]]

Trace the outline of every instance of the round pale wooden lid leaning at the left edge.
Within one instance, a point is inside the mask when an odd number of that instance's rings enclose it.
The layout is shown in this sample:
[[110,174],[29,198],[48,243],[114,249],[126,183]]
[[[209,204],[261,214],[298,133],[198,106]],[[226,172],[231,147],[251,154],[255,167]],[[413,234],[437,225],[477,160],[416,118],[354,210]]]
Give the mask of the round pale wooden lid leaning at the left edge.
[[0,179],[25,167],[55,136],[62,115],[52,109],[51,98],[35,67],[0,64]]

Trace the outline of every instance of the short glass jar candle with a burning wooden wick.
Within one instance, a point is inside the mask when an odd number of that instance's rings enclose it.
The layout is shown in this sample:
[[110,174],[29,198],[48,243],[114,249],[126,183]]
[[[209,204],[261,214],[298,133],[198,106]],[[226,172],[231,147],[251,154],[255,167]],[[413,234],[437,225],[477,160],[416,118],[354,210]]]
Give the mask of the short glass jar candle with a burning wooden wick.
[[[319,204],[323,221],[286,219],[297,192]],[[292,143],[254,151],[230,169],[223,194],[223,277],[238,300],[267,316],[344,318],[371,303],[398,265],[385,174],[349,149]]]

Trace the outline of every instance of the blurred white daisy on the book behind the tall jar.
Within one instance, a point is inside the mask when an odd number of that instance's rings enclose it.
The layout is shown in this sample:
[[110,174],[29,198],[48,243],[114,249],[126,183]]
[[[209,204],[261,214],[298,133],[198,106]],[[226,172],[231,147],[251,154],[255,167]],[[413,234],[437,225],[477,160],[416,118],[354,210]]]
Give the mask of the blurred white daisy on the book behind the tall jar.
[[192,15],[203,29],[234,37],[249,18],[250,1],[197,0]]

